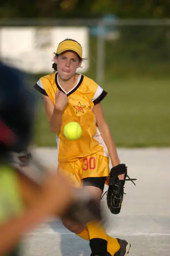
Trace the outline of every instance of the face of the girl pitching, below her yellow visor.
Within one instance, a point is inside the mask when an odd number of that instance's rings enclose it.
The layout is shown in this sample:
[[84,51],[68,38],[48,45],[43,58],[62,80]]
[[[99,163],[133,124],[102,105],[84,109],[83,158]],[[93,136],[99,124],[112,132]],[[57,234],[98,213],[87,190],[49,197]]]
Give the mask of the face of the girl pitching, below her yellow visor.
[[73,77],[76,69],[81,66],[81,61],[74,51],[65,51],[55,59],[55,62],[58,74],[63,80],[69,80]]

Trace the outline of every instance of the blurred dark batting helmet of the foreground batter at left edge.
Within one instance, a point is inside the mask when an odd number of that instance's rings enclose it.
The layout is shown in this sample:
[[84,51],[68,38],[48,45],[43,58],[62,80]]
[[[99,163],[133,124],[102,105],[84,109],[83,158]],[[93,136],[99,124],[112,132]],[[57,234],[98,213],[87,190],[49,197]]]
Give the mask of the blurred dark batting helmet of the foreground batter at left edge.
[[25,74],[0,63],[0,156],[24,151],[33,133],[35,97]]

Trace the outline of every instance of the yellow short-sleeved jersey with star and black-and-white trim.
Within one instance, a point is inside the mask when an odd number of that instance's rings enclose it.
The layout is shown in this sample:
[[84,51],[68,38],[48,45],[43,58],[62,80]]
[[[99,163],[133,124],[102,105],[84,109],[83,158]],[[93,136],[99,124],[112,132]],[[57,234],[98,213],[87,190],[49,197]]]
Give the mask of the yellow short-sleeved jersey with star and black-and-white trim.
[[[92,79],[82,74],[79,74],[77,84],[69,92],[66,92],[58,82],[57,72],[41,77],[34,88],[50,97],[54,105],[55,94],[58,90],[66,93],[69,98],[62,115],[61,131],[56,134],[58,161],[75,161],[77,158],[95,153],[109,157],[93,112],[94,105],[101,102],[107,92]],[[63,134],[63,127],[71,121],[79,123],[82,128],[82,136],[74,141],[67,139]]]

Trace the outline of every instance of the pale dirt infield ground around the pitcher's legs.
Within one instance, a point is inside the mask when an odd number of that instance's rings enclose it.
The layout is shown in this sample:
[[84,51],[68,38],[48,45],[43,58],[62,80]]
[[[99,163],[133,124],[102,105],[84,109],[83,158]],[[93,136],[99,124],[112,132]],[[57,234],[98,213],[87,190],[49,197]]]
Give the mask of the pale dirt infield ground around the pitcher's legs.
[[[47,166],[56,166],[56,149],[37,148],[35,155]],[[108,215],[107,232],[129,240],[129,256],[170,255],[170,148],[118,148],[136,187],[126,182],[122,210]],[[105,188],[107,189],[107,187]],[[105,200],[105,199],[104,199]],[[26,239],[26,256],[89,256],[88,241],[66,230],[60,221],[43,224]]]

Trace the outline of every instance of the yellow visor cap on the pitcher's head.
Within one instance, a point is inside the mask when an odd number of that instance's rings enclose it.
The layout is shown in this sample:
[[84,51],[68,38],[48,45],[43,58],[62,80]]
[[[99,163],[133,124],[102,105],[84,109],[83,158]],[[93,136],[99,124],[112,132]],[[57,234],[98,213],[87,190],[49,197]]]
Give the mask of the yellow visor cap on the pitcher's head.
[[58,44],[57,47],[57,54],[61,54],[63,51],[75,51],[76,54],[80,56],[80,58],[83,57],[83,51],[82,47],[79,43],[71,40],[62,41],[60,44]]

